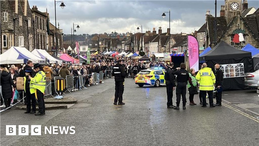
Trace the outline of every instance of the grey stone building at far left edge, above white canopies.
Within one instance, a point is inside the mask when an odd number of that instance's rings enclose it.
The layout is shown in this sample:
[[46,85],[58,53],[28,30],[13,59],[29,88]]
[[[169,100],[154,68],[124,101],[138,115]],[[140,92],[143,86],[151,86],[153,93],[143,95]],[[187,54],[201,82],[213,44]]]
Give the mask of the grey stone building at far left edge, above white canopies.
[[[1,51],[11,46],[34,48],[32,13],[27,0],[1,1]],[[14,26],[14,27],[13,27]]]

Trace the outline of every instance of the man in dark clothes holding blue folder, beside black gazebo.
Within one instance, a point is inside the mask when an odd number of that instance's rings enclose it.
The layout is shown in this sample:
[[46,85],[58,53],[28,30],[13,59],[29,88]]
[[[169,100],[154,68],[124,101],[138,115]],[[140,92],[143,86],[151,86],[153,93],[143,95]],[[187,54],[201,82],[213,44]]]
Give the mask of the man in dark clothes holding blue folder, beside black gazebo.
[[[220,70],[220,65],[217,63],[215,64],[215,77],[216,83],[215,88],[222,88],[222,81],[223,81],[223,72]],[[222,92],[216,92],[216,104],[215,106],[221,106],[221,97]]]

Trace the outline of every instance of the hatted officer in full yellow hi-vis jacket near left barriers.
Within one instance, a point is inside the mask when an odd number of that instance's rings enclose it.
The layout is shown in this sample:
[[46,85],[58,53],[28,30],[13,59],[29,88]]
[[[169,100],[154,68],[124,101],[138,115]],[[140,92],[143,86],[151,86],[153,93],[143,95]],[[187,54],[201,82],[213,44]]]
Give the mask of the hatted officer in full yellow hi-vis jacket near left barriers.
[[38,101],[39,112],[35,114],[35,116],[45,115],[45,103],[44,103],[44,91],[46,86],[46,75],[44,71],[42,71],[42,67],[39,63],[34,65],[34,70],[37,73],[34,78],[29,77],[31,79],[32,88],[35,88],[35,97]]

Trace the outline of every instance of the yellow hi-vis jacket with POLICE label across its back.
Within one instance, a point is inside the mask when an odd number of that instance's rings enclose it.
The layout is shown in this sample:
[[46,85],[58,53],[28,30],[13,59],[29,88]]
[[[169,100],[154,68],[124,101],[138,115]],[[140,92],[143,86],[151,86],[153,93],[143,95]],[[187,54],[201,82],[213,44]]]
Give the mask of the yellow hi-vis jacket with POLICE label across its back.
[[197,81],[200,83],[200,90],[211,91],[214,90],[216,77],[211,68],[202,68],[196,75]]

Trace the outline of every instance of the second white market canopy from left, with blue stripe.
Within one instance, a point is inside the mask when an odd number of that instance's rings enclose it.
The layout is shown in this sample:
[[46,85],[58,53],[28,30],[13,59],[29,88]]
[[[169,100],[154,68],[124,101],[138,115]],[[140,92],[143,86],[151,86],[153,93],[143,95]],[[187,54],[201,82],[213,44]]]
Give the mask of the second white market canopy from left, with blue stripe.
[[48,54],[48,52],[46,52],[45,50],[42,50],[42,49],[34,49],[32,51],[32,54],[42,58],[42,59],[45,59],[47,57],[47,59],[49,60],[49,63],[57,63],[57,64],[62,64],[62,61],[61,60],[58,60],[54,57],[52,57],[51,55]]

